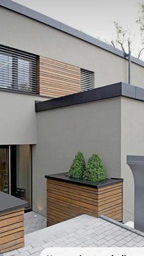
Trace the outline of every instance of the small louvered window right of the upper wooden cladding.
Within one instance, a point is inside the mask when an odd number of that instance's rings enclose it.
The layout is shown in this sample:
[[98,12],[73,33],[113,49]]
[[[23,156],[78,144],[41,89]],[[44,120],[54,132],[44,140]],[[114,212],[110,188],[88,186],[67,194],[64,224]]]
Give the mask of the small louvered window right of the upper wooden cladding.
[[93,72],[81,68],[81,92],[93,89]]

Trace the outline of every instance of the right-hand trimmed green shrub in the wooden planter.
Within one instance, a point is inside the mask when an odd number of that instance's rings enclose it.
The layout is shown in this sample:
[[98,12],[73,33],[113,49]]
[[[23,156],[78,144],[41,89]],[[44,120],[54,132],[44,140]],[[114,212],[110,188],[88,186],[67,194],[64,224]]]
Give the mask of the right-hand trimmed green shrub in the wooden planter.
[[101,161],[101,158],[99,158],[98,154],[93,153],[89,157],[83,179],[95,182],[106,179],[103,162]]

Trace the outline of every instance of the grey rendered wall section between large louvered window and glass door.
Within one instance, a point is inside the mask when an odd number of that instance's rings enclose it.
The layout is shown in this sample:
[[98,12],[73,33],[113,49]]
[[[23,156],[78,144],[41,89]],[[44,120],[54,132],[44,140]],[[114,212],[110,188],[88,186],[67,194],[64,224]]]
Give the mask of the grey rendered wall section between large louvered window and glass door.
[[35,100],[46,99],[0,91],[0,145],[36,144]]

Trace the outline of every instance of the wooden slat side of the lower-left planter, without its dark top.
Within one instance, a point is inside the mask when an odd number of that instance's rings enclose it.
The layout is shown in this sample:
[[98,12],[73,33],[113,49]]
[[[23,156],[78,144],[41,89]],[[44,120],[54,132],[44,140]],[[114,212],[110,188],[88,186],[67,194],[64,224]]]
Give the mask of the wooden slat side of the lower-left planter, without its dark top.
[[0,254],[24,246],[24,209],[0,214]]

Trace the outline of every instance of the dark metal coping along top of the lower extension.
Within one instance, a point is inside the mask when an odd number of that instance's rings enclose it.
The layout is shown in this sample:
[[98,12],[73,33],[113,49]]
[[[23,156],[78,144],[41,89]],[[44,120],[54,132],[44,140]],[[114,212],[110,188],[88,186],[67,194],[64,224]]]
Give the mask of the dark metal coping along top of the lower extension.
[[110,84],[109,86],[98,87],[85,92],[78,92],[64,97],[35,103],[35,112],[120,96],[144,101],[144,89],[137,86],[131,86],[131,84],[126,84],[124,82],[118,82],[117,84]]

